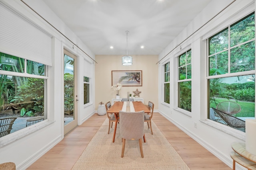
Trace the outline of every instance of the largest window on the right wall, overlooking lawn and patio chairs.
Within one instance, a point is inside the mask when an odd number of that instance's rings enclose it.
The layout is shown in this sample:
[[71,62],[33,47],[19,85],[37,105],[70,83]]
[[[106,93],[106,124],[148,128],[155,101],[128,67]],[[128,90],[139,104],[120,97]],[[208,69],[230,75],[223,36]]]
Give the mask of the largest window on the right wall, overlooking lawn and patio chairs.
[[208,119],[227,124],[211,109],[225,101],[240,107],[232,116],[242,120],[255,117],[254,13],[208,39],[208,96]]

